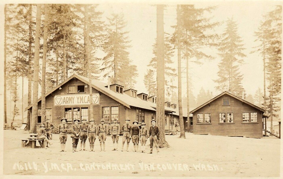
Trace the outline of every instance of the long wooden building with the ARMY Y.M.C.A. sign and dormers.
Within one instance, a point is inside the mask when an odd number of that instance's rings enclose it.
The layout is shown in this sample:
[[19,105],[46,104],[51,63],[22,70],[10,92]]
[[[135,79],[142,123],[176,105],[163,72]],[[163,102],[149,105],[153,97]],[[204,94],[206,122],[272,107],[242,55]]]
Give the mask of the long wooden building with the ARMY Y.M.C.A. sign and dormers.
[[[46,118],[55,125],[60,123],[62,117],[67,118],[68,123],[74,119],[86,119],[89,121],[89,81],[88,78],[73,74],[61,84],[46,93]],[[137,93],[134,89],[124,89],[119,84],[106,84],[96,80],[91,81],[93,91],[93,117],[95,123],[100,123],[101,118],[106,122],[113,122],[114,118],[122,127],[127,117],[131,122],[151,125],[151,120],[156,118],[156,98],[148,97],[145,93]],[[166,104],[166,105],[165,105]],[[165,128],[174,128],[174,120],[178,120],[173,114],[176,106],[164,104],[164,113],[167,116]],[[32,110],[32,105],[26,110]],[[172,117],[173,116],[173,117]],[[41,99],[38,100],[38,125],[44,122],[41,118]],[[130,123],[131,123],[130,122]],[[170,124],[170,125],[169,125]]]

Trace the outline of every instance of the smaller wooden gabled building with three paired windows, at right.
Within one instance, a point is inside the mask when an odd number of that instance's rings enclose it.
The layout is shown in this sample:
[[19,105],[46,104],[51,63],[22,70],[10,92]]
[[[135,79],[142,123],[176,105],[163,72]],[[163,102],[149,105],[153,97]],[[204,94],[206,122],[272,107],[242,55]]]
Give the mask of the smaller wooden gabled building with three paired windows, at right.
[[264,109],[223,92],[190,111],[193,133],[262,138]]

